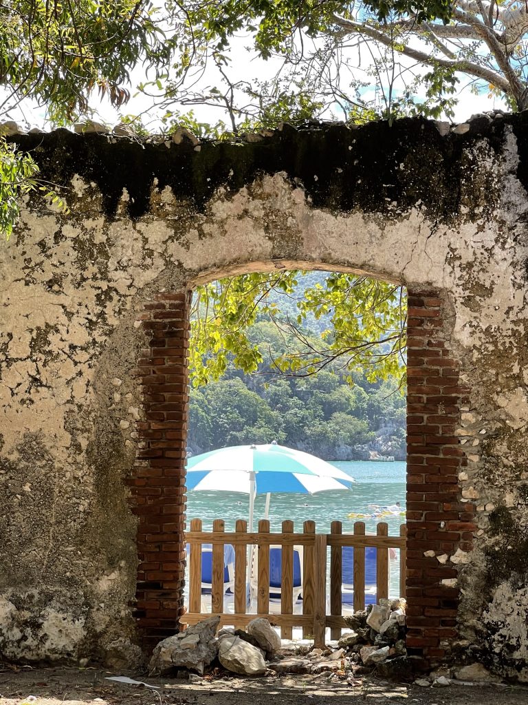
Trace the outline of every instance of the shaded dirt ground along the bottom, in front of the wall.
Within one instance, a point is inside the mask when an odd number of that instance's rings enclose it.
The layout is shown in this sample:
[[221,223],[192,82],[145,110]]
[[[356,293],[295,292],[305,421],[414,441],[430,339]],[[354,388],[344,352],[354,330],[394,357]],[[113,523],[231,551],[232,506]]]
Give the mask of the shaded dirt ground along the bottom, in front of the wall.
[[528,704],[528,687],[518,685],[421,688],[374,679],[351,685],[313,675],[189,682],[119,674],[155,686],[151,689],[106,680],[113,675],[93,668],[0,667],[0,705],[386,705],[403,700],[409,705]]

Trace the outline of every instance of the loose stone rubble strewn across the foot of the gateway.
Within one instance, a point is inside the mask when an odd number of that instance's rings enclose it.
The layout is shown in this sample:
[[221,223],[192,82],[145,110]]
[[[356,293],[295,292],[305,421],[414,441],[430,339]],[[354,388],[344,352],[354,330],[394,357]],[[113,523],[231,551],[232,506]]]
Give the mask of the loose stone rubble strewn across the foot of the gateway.
[[[448,687],[453,678],[459,683],[498,680],[480,663],[441,668],[428,677],[420,676],[420,658],[409,656],[406,649],[406,601],[403,598],[380,599],[378,604],[346,617],[353,631],[323,649],[313,648],[310,642],[282,644],[277,631],[261,617],[252,620],[246,631],[224,627],[217,638],[219,620],[220,617],[211,616],[186,632],[160,642],[149,665],[151,675],[177,668],[188,668],[203,675],[206,667],[212,670],[219,662],[238,675],[311,674],[330,682],[351,682],[375,675],[376,678],[413,682],[425,688]],[[218,661],[215,661],[217,656]]]

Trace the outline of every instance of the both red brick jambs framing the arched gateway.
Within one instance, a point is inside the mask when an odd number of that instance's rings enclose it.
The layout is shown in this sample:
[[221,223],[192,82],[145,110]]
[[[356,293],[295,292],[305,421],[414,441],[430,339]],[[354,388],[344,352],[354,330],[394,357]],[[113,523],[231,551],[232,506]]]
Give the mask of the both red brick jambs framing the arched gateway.
[[[145,413],[131,484],[139,516],[135,615],[146,649],[172,635],[183,613],[190,300],[189,291],[159,294],[141,317]],[[407,646],[428,661],[440,660],[457,634],[457,573],[442,557],[467,551],[475,528],[474,508],[458,488],[464,389],[448,329],[443,298],[408,292]]]

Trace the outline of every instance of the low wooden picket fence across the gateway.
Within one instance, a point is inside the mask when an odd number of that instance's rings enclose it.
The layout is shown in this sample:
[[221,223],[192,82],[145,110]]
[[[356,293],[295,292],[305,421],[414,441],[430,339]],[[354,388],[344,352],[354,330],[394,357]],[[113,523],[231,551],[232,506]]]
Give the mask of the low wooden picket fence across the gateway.
[[[353,610],[365,607],[365,548],[376,548],[376,599],[389,596],[389,549],[400,551],[399,596],[405,595],[406,527],[399,536],[389,536],[384,522],[377,525],[377,534],[365,534],[365,523],[356,522],[353,534],[343,534],[341,522],[332,522],[329,534],[316,534],[315,522],[306,521],[302,533],[294,533],[294,522],[282,522],[282,532],[272,534],[270,522],[258,522],[258,532],[248,533],[247,523],[237,520],[234,532],[225,532],[221,519],[213,522],[213,531],[204,532],[200,519],[190,522],[186,534],[189,545],[189,611],[182,622],[196,624],[208,613],[201,611],[202,546],[212,545],[210,584],[211,612],[220,615],[220,625],[245,627],[256,616],[265,617],[281,629],[283,639],[291,639],[292,628],[302,627],[303,637],[314,639],[316,646],[325,643],[325,629],[330,627],[332,639],[339,638],[346,627],[342,616],[342,548],[353,552]],[[225,612],[225,546],[234,548],[234,587],[230,599],[233,612]],[[280,613],[270,613],[270,546],[282,549],[282,585]],[[303,547],[302,613],[294,613],[294,546]],[[255,547],[255,548],[253,548]],[[329,547],[329,585],[327,592],[327,548]],[[250,570],[248,570],[248,567]],[[253,584],[256,589],[249,586]],[[256,613],[248,612],[251,590]],[[256,593],[256,594],[255,594]],[[329,598],[329,599],[328,599]],[[327,614],[327,605],[329,614]]]

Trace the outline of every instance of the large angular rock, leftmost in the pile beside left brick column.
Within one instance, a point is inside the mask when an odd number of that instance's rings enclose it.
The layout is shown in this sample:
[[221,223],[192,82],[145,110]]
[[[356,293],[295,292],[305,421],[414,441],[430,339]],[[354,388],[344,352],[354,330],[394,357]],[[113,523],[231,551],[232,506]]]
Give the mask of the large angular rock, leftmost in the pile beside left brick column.
[[220,617],[212,615],[186,632],[163,639],[153,651],[149,673],[163,675],[174,668],[190,668],[203,675],[218,651],[215,633],[219,623]]

